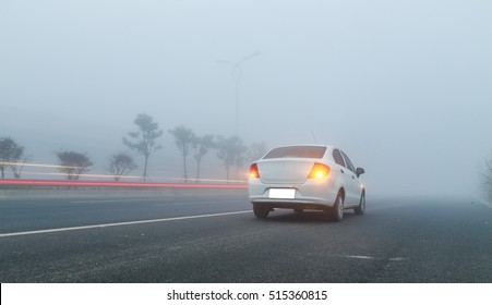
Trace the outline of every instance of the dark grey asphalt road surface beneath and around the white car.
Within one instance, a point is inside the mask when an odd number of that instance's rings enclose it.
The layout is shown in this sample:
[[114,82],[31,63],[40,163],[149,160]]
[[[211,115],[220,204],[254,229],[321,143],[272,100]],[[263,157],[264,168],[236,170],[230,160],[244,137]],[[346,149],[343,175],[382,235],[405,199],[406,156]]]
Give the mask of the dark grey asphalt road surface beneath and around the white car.
[[367,204],[336,223],[290,210],[256,219],[244,191],[0,202],[0,282],[492,282],[492,208]]

